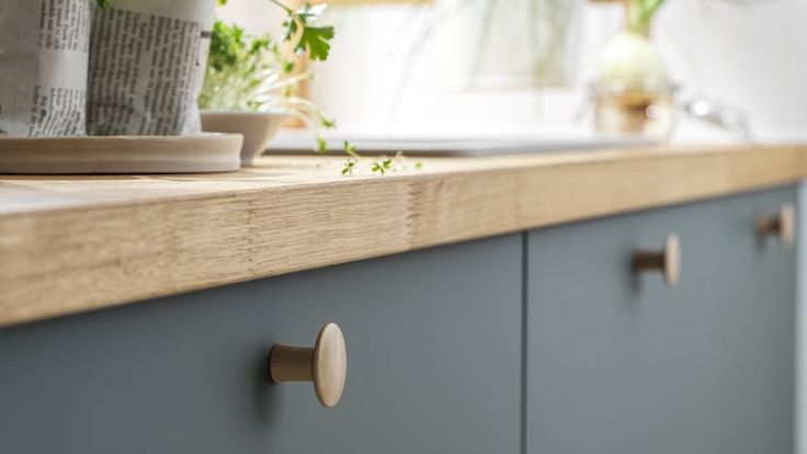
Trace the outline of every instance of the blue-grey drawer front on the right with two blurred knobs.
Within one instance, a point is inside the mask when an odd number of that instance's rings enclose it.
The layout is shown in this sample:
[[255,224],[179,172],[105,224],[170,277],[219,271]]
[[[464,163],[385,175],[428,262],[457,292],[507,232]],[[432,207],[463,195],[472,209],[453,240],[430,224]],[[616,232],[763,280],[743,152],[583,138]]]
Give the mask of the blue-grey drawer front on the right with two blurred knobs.
[[[794,189],[536,230],[527,238],[527,452],[793,452],[795,249],[754,217]],[[681,241],[678,287],[634,277]]]

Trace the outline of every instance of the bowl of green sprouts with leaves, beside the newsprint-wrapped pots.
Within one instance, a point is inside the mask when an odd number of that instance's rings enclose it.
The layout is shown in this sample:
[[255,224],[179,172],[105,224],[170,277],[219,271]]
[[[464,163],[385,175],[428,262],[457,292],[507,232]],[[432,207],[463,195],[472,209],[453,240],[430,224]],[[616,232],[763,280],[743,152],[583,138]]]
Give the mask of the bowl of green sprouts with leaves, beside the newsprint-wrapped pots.
[[[304,7],[296,12],[305,18],[306,25],[315,21],[325,5]],[[294,45],[289,56],[282,50],[282,43],[270,35],[251,36],[235,24],[216,20],[211,37],[211,52],[205,79],[200,94],[204,130],[238,133],[245,137],[241,150],[243,164],[252,164],[274,137],[287,116],[299,118],[314,129],[331,128],[333,120],[327,117],[310,101],[295,95],[299,82],[310,79],[310,72],[297,71],[297,57],[310,55],[325,60],[329,54],[328,41],[332,27],[316,27],[318,37],[311,47],[309,37],[300,35],[300,27],[292,19],[286,21],[286,42]],[[296,29],[295,29],[296,27]],[[302,29],[305,32],[305,29]],[[308,32],[310,33],[310,32]],[[295,37],[296,35],[296,37]],[[308,39],[307,47],[303,47]],[[326,148],[323,139],[317,147]]]

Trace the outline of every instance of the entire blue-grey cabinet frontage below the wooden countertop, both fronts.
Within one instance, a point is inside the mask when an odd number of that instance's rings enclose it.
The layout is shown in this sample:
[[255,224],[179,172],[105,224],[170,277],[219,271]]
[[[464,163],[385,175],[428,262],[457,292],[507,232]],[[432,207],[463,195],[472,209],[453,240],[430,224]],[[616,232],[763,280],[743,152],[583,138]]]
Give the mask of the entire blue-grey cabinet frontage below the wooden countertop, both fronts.
[[[512,229],[1,328],[0,451],[793,453],[795,248],[774,215],[796,198]],[[277,248],[260,245],[248,260]],[[270,381],[270,349],[311,347],[329,321],[348,357],[332,409]]]

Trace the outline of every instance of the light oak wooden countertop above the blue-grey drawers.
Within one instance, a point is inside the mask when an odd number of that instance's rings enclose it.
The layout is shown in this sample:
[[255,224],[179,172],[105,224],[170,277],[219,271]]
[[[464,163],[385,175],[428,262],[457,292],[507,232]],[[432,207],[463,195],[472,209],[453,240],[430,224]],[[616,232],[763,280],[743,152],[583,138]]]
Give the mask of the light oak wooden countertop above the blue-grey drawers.
[[386,177],[341,162],[0,175],[0,326],[794,183],[807,146],[432,158]]

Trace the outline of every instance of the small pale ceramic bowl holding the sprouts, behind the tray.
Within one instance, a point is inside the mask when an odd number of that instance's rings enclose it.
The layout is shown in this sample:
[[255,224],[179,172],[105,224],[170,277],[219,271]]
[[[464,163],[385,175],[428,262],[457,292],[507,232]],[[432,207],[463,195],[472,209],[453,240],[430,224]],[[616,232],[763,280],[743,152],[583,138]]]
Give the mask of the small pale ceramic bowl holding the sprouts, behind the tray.
[[255,158],[266,150],[288,113],[203,111],[202,130],[206,133],[231,133],[243,136],[241,164],[252,166]]

